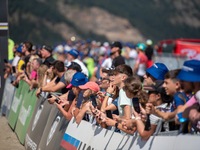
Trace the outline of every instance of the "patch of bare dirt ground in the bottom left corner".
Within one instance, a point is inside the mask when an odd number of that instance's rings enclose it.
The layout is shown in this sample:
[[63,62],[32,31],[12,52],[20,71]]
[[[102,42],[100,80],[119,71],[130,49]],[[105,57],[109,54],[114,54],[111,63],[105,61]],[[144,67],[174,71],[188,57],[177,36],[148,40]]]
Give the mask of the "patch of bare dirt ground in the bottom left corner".
[[0,117],[0,150],[25,150],[6,117]]

